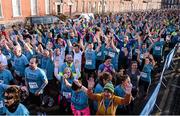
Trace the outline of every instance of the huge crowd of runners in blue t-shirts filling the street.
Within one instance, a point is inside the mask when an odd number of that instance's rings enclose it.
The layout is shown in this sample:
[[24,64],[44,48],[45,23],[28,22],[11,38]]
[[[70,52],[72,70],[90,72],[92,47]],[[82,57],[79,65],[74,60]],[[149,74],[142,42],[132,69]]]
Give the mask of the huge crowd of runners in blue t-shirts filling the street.
[[179,41],[177,9],[20,24],[9,32],[2,27],[0,115],[54,105],[68,115],[134,114],[134,101],[147,99],[164,57]]

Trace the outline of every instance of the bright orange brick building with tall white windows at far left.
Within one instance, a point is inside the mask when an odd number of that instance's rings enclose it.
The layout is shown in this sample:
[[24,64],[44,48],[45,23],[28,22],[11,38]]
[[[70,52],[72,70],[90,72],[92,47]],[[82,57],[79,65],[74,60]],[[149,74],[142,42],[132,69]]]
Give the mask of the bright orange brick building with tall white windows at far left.
[[50,13],[50,0],[0,0],[0,24],[10,25],[25,17]]

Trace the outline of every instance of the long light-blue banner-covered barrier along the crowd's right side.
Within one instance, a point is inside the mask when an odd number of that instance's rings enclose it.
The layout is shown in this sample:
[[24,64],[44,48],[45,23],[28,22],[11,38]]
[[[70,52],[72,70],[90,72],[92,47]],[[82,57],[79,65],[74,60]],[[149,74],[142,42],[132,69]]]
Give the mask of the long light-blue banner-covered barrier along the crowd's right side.
[[[162,70],[162,73],[160,76],[159,83],[157,84],[155,90],[153,91],[151,97],[147,101],[147,103],[144,106],[143,110],[141,111],[140,115],[149,115],[151,113],[151,111],[153,110],[154,106],[156,105],[156,99],[157,99],[161,84],[163,84],[162,79],[163,79],[164,72],[166,69],[168,69],[170,67],[173,56],[176,51],[176,48],[179,49],[179,45],[180,44],[176,44],[175,47],[168,53],[165,63],[164,63],[164,66],[163,66],[163,70]],[[159,107],[157,105],[156,105],[156,107],[159,109]]]

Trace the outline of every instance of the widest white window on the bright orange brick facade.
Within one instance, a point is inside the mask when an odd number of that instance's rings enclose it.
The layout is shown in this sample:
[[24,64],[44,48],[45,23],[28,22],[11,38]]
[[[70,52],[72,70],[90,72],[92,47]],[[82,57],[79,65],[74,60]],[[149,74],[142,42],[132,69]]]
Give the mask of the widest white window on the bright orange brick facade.
[[13,17],[21,16],[21,1],[20,0],[12,0],[13,7]]

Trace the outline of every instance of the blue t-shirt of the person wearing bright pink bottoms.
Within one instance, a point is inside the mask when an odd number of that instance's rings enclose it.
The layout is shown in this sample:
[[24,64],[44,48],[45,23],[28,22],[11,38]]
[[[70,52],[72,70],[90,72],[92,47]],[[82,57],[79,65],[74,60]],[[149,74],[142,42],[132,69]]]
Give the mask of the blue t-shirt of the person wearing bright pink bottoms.
[[88,96],[81,90],[78,92],[72,91],[71,103],[76,110],[83,110],[89,106]]

